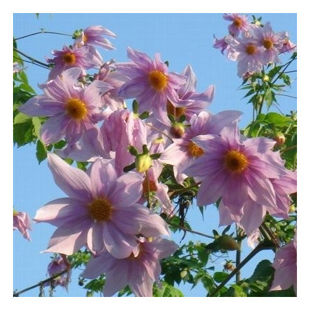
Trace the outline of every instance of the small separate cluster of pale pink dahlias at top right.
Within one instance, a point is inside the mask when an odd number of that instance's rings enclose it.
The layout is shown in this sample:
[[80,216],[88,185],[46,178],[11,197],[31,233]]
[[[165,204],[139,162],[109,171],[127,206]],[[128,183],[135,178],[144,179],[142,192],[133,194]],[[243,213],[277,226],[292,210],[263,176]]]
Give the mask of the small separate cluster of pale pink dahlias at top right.
[[257,20],[249,23],[247,16],[224,14],[223,18],[232,23],[229,34],[222,39],[215,38],[213,47],[226,51],[227,58],[238,62],[239,77],[261,73],[263,65],[281,62],[280,53],[294,51],[296,45],[289,40],[287,32],[274,32],[270,23]]

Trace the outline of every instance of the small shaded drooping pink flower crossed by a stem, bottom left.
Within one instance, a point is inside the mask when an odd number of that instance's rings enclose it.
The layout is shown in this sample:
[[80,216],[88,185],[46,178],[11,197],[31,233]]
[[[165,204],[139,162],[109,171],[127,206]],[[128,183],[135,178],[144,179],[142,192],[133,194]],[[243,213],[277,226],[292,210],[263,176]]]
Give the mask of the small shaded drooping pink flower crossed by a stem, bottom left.
[[[65,273],[62,273],[66,271]],[[49,276],[55,276],[56,274],[60,274],[60,276],[57,276],[56,278],[53,278],[51,282],[47,282],[46,285],[51,285],[52,287],[56,287],[57,285],[60,285],[68,290],[69,282],[71,281],[71,270],[70,265],[64,259],[56,254],[56,256],[53,258],[51,263],[47,266],[47,272],[49,273]]]

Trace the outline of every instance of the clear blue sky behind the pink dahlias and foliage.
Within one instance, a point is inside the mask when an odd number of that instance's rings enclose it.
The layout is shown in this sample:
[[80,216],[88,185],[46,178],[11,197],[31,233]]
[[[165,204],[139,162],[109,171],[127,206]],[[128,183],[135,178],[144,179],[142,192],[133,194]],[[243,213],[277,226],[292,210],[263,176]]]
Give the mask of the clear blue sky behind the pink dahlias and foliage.
[[[275,31],[288,31],[291,40],[297,42],[296,14],[255,15],[263,16],[264,22],[270,21]],[[246,100],[241,100],[245,93],[237,91],[241,84],[237,77],[237,63],[226,60],[219,50],[212,47],[213,34],[222,38],[228,32],[228,24],[228,21],[222,19],[222,14],[40,14],[38,19],[34,14],[14,14],[13,33],[15,37],[19,37],[44,28],[46,31],[72,34],[75,29],[102,25],[117,34],[116,39],[111,39],[116,47],[115,51],[99,49],[104,60],[114,58],[120,62],[127,61],[126,47],[130,46],[147,53],[151,58],[159,52],[162,60],[169,60],[171,71],[180,73],[187,64],[191,64],[198,78],[198,91],[202,92],[208,85],[215,84],[215,99],[209,110],[214,113],[222,110],[243,111],[242,127],[250,121],[252,109],[250,105],[246,105]],[[19,40],[18,48],[44,61],[45,56],[51,57],[52,49],[62,49],[64,44],[71,42],[71,38],[67,36],[40,34]],[[36,85],[47,80],[48,71],[32,64],[26,66],[29,83],[40,94]],[[290,95],[296,95],[295,82]],[[279,103],[285,113],[296,110],[294,99],[281,97]],[[36,210],[43,204],[64,197],[62,191],[54,184],[46,161],[38,165],[35,152],[33,145],[14,147],[13,158],[14,206],[19,211],[27,211],[31,217],[34,217]],[[204,222],[200,212],[194,207],[188,216],[195,230],[210,233],[218,226],[217,213],[212,206],[208,206]],[[50,255],[40,254],[40,251],[47,248],[53,230],[55,228],[48,224],[34,224],[31,232],[32,242],[14,232],[13,289],[24,289],[46,278]],[[219,230],[222,231],[222,228]],[[177,242],[179,240],[180,238]],[[243,257],[245,255],[246,253],[243,253]],[[58,288],[55,296],[85,296],[86,290],[77,285],[78,273],[73,274],[75,276],[69,285],[69,294]],[[204,296],[199,286],[192,291],[189,288],[183,291],[185,296]],[[23,296],[38,296],[38,289]]]

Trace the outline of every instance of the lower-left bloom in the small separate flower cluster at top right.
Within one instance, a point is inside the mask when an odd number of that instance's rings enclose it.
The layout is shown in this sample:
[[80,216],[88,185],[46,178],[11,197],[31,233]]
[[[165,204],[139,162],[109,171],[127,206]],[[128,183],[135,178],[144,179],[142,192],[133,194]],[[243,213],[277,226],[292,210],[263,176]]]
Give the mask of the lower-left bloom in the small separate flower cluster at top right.
[[257,45],[254,38],[234,38],[233,36],[226,36],[225,42],[237,53],[237,58],[231,60],[237,60],[238,62],[237,68],[240,78],[247,73],[261,72],[263,69],[262,53],[264,48]]

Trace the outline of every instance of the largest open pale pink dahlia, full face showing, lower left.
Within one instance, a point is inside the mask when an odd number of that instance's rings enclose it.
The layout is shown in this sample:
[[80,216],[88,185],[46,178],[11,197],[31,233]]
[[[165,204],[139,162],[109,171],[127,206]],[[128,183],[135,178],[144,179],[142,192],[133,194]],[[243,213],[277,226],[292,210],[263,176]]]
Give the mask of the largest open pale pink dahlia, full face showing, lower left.
[[56,154],[48,154],[48,165],[69,198],[53,200],[36,213],[34,221],[58,227],[45,252],[70,255],[87,246],[95,255],[107,250],[122,259],[136,248],[134,235],[169,234],[161,217],[136,203],[142,193],[139,174],[117,178],[114,167],[102,160],[86,173]]

